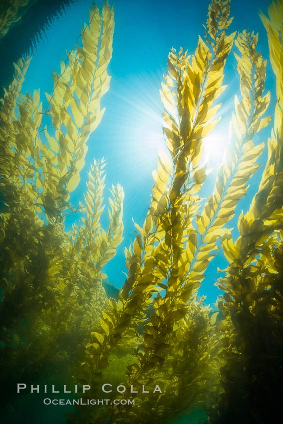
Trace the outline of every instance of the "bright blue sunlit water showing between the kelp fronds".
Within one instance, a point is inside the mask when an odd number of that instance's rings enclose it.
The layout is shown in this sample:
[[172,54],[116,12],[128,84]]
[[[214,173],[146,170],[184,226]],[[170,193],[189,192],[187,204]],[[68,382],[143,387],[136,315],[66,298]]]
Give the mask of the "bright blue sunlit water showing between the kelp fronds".
[[[102,2],[97,2],[101,6]],[[204,36],[209,1],[161,1],[117,0],[114,3],[115,31],[113,39],[113,57],[108,68],[111,75],[110,89],[102,99],[102,107],[106,108],[98,128],[90,136],[86,165],[81,171],[80,184],[71,195],[74,207],[83,201],[86,191],[87,171],[93,158],[104,157],[107,161],[107,177],[104,199],[110,195],[108,188],[114,183],[123,186],[124,201],[124,240],[117,249],[116,256],[103,269],[109,281],[120,288],[125,280],[122,271],[125,267],[124,247],[134,240],[135,222],[142,225],[150,206],[152,190],[152,171],[156,168],[157,151],[165,148],[162,133],[163,106],[159,96],[163,74],[166,73],[166,59],[171,47],[177,50],[180,46],[193,53],[198,35]],[[258,47],[263,57],[269,57],[266,31],[259,18],[262,9],[267,14],[269,1],[233,1],[231,15],[234,21],[230,32],[249,29],[259,32]],[[112,5],[112,3],[110,3]],[[84,22],[88,22],[88,11],[91,1],[81,0],[49,22],[42,30],[32,49],[32,61],[26,74],[23,91],[32,91],[40,87],[43,107],[47,101],[44,92],[52,93],[52,72],[60,73],[60,58],[65,60],[65,51],[73,48]],[[20,42],[20,39],[19,39]],[[234,51],[237,51],[235,48]],[[224,83],[228,88],[221,96],[223,103],[219,111],[222,121],[216,128],[224,144],[228,141],[228,125],[234,106],[234,96],[240,97],[239,76],[234,55],[230,55],[225,70]],[[267,89],[272,92],[272,102],[268,114],[272,115],[275,107],[275,77],[268,63]],[[271,132],[260,132],[255,143],[267,141]],[[218,149],[218,148],[216,148]],[[263,165],[267,159],[267,148],[260,158]],[[214,171],[209,175],[202,195],[212,194],[218,158],[210,160]],[[234,227],[233,235],[237,237],[237,220],[240,212],[247,212],[253,195],[258,190],[262,170],[257,171],[250,182],[250,189],[244,200],[236,208],[235,218],[229,223]],[[66,229],[70,229],[79,213],[72,213],[65,219]],[[108,213],[105,210],[102,225],[107,230]],[[199,294],[206,295],[207,303],[215,302],[220,291],[214,286],[218,278],[217,267],[225,268],[227,261],[222,251],[218,253],[207,271]]]

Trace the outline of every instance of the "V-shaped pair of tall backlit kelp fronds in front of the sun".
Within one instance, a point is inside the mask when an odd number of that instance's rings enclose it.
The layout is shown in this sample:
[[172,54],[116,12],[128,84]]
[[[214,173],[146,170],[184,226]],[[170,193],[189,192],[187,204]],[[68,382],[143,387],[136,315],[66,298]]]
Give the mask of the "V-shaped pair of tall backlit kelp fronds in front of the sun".
[[[214,4],[214,6],[219,6],[219,4]],[[223,5],[224,11],[226,10],[225,6],[226,3]],[[211,13],[210,19],[212,19],[212,15]],[[225,20],[227,20],[227,16]],[[212,25],[210,20],[209,25]],[[224,26],[226,28],[226,24]],[[212,30],[210,29],[210,31]],[[163,85],[161,95],[166,108],[163,116],[167,126],[164,132],[173,161],[173,173],[172,183],[169,186],[168,179],[165,178],[166,174],[159,178],[158,173],[154,175],[156,182],[154,193],[158,192],[158,202],[156,205],[152,203],[152,207],[156,208],[155,224],[162,227],[164,239],[161,239],[162,241],[151,251],[152,256],[158,258],[158,263],[154,264],[156,266],[154,274],[156,275],[159,271],[163,275],[164,280],[158,283],[158,286],[165,289],[165,294],[162,296],[160,293],[153,300],[155,315],[151,317],[151,322],[145,328],[143,344],[136,353],[138,363],[133,365],[129,373],[129,386],[139,387],[141,384],[148,384],[154,387],[154,382],[157,382],[158,378],[160,379],[160,369],[166,361],[177,361],[175,358],[177,351],[174,351],[173,348],[173,345],[176,345],[176,341],[173,342],[174,335],[178,329],[181,331],[182,318],[190,309],[190,304],[187,303],[188,299],[199,287],[204,278],[203,272],[209,261],[216,255],[215,241],[227,231],[222,229],[223,225],[233,216],[238,201],[247,192],[249,178],[258,169],[258,165],[254,162],[262,153],[263,144],[254,146],[252,139],[256,132],[270,122],[271,118],[269,117],[260,119],[268,107],[270,95],[269,93],[264,95],[265,64],[261,54],[256,51],[257,36],[244,32],[238,36],[237,41],[241,52],[241,58],[237,56],[237,59],[242,99],[241,102],[237,98],[235,100],[229,156],[227,155],[226,163],[219,170],[213,196],[209,198],[203,211],[198,215],[199,199],[192,194],[199,190],[205,179],[204,170],[198,166],[202,151],[201,137],[204,134],[207,135],[216,123],[212,124],[207,121],[212,119],[219,108],[219,106],[211,106],[213,100],[223,90],[221,87],[223,66],[233,40],[232,36],[225,35],[225,31],[223,31],[222,37],[221,47],[211,41],[213,53],[210,56],[206,55],[208,60],[204,61],[203,67],[200,66],[201,56],[199,53],[204,51],[202,40],[199,40],[195,56],[192,58],[192,65],[182,50],[179,52],[179,57],[175,55],[175,52],[171,52],[169,56],[170,79],[168,75],[165,77],[167,86]],[[214,57],[216,51],[217,55]],[[221,56],[221,52],[223,52],[223,56]],[[218,62],[219,56],[221,63]],[[205,57],[204,54],[202,57]],[[173,69],[175,69],[175,74]],[[219,70],[219,73],[216,69]],[[194,70],[193,79],[192,72]],[[184,76],[186,72],[188,74]],[[214,80],[216,74],[217,79]],[[174,75],[175,88],[172,84]],[[202,75],[202,77],[196,78],[196,75]],[[209,81],[208,85],[206,85],[206,78]],[[190,81],[194,81],[191,86]],[[200,93],[193,91],[196,90],[198,81]],[[174,95],[176,100],[174,100]],[[198,101],[190,102],[191,98],[197,98]],[[188,105],[191,106],[188,107]],[[187,107],[186,113],[184,112],[185,106]],[[206,120],[207,114],[209,117]],[[187,126],[184,124],[185,116],[187,117]],[[171,128],[168,128],[169,123],[171,123]],[[188,133],[184,132],[185,128]],[[207,132],[203,133],[202,131]],[[196,138],[195,134],[197,134]],[[163,166],[163,171],[165,169],[166,167]],[[198,174],[200,181],[197,178]],[[157,205],[159,206],[158,211]],[[161,213],[158,214],[158,212]],[[196,396],[197,392],[195,387]],[[160,395],[160,397],[162,396]],[[159,399],[158,396],[157,399]],[[156,402],[158,404],[158,400]],[[118,407],[116,414],[114,413],[116,418],[112,418],[113,422],[122,422],[125,410],[126,407]],[[160,411],[156,409],[157,416],[158,414],[163,416],[162,410],[163,406]],[[133,419],[134,416],[131,414],[130,420]],[[139,414],[136,419],[140,419]]]

